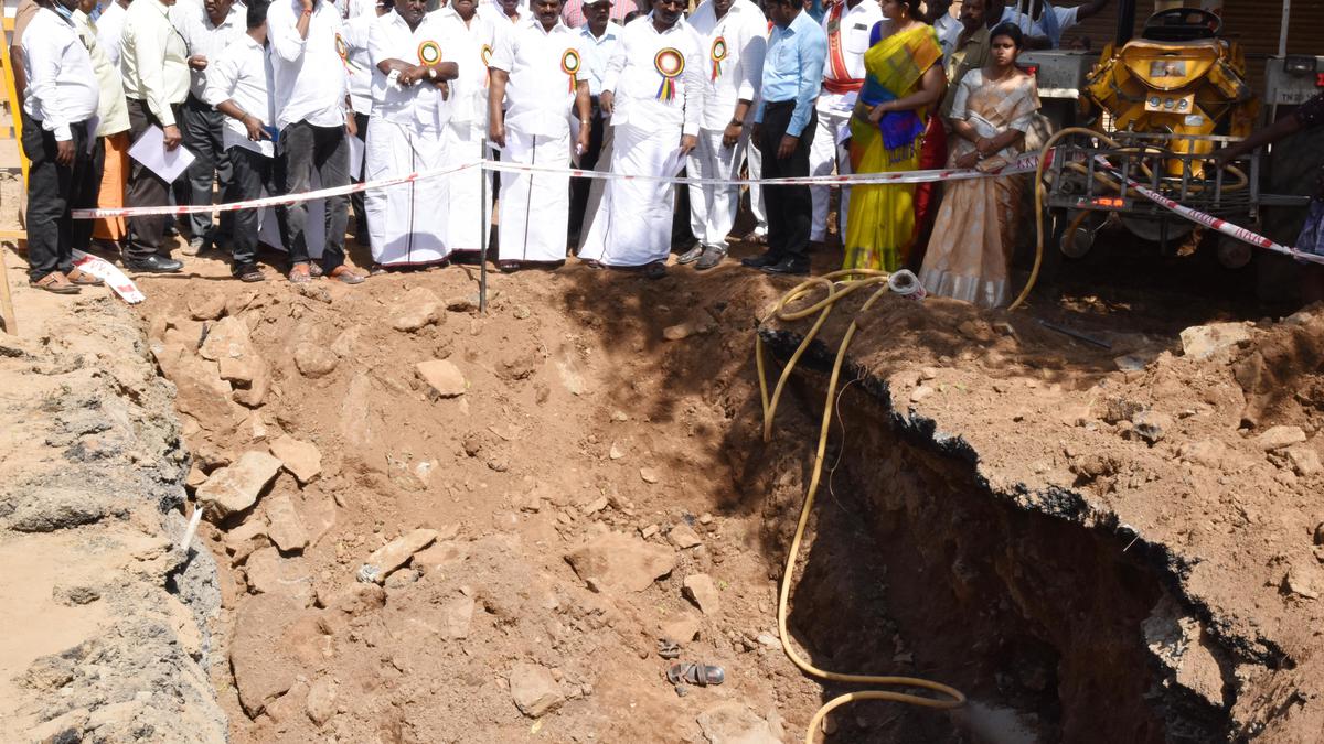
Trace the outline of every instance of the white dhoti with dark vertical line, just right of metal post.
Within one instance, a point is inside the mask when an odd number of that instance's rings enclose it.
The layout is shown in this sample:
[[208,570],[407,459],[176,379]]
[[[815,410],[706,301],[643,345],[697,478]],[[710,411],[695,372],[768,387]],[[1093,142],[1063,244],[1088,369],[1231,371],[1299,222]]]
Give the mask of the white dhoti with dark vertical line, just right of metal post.
[[[571,167],[571,132],[530,135],[506,124],[506,163]],[[522,263],[565,261],[571,221],[569,173],[503,171],[498,207],[498,261]]]

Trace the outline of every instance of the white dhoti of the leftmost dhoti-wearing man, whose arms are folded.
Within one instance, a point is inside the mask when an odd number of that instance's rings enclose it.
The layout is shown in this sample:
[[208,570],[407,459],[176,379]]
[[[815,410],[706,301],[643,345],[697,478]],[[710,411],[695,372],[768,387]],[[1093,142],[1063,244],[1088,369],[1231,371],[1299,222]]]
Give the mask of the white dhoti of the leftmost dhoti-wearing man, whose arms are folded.
[[[445,167],[441,130],[430,131],[373,118],[368,126],[364,180],[395,179]],[[446,248],[450,179],[417,179],[369,189],[363,208],[368,213],[372,259],[388,266],[436,263],[450,254]]]

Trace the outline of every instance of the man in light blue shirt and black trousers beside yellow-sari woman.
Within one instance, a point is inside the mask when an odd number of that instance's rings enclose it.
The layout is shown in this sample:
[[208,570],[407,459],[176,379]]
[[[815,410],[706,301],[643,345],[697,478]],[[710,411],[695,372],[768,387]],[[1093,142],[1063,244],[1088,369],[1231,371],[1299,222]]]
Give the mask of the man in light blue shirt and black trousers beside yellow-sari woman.
[[[763,101],[755,111],[753,140],[763,154],[763,177],[809,175],[809,146],[818,126],[814,99],[824,79],[828,36],[804,11],[804,0],[763,0],[773,23],[763,64]],[[809,187],[764,188],[768,252],[745,258],[745,266],[771,274],[809,273]]]

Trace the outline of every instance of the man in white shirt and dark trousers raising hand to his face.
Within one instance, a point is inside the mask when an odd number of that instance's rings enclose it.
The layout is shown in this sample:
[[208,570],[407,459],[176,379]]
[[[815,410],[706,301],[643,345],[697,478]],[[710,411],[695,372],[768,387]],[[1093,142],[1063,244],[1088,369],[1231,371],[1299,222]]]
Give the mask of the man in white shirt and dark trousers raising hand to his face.
[[[147,0],[138,0],[139,3]],[[279,130],[277,155],[283,158],[286,193],[303,193],[312,187],[316,169],[322,188],[350,183],[350,142],[354,116],[346,118],[346,75],[340,13],[326,0],[275,0],[266,15],[267,44],[275,77],[275,127]],[[323,200],[326,245],[322,273],[357,285],[363,275],[344,265],[344,233],[350,221],[350,199]],[[290,281],[312,279],[308,257],[308,204],[289,208],[286,248],[290,252]]]

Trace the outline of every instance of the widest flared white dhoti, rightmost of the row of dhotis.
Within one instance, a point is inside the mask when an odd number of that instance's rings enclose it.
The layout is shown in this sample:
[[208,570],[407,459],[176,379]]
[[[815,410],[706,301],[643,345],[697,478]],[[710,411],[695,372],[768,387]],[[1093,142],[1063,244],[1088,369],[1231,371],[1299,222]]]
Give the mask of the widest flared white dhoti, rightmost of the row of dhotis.
[[[612,144],[612,172],[671,176],[667,163],[681,146],[679,127],[618,124]],[[671,253],[675,184],[654,180],[608,181],[580,258],[608,266],[645,266]]]

